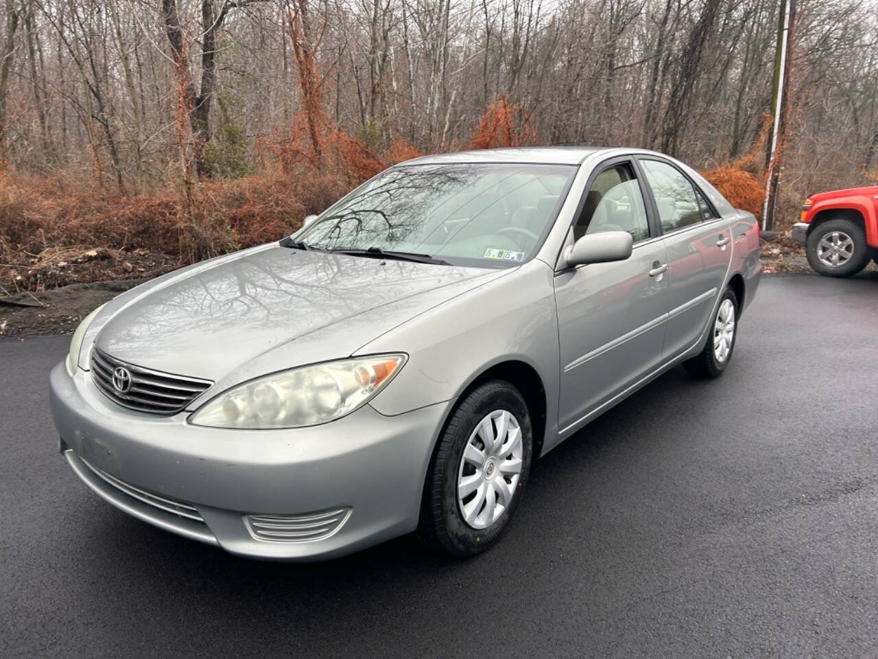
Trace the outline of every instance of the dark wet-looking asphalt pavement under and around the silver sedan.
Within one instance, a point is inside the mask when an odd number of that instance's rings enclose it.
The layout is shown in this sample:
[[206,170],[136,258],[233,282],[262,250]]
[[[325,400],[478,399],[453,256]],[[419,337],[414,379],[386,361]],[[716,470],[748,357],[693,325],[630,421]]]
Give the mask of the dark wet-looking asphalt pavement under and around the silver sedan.
[[499,547],[248,561],[57,453],[69,337],[0,342],[0,656],[878,656],[878,273],[763,280],[719,380],[674,369],[539,460]]

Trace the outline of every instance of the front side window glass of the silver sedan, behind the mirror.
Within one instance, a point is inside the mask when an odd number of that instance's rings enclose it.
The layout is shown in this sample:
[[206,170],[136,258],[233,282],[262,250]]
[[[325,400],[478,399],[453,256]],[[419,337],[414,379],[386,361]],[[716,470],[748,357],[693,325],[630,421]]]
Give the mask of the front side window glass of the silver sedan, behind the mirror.
[[628,164],[608,167],[594,177],[573,238],[601,231],[627,231],[635,243],[650,237],[644,196]]

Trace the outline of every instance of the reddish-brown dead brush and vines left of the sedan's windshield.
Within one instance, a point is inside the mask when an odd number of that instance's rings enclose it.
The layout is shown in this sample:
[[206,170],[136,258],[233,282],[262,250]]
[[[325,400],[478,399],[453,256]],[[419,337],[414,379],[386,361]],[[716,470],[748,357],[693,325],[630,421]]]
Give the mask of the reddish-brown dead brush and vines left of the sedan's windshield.
[[[421,156],[401,140],[375,155],[363,141],[328,124],[321,126],[320,138],[319,161],[299,126],[263,141],[272,157],[263,158],[252,176],[190,188],[168,185],[137,196],[0,164],[0,286],[8,285],[0,293],[60,284],[67,280],[56,276],[60,268],[83,263],[82,254],[94,250],[119,264],[131,260],[122,252],[145,250],[164,255],[162,264],[170,258],[183,265],[268,243],[385,167]],[[79,280],[88,280],[83,277]]]

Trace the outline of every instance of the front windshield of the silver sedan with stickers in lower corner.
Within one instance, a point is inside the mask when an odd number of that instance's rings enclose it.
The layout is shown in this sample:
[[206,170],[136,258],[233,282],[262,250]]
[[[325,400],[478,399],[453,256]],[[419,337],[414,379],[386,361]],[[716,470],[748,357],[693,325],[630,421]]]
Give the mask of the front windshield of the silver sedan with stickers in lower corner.
[[296,236],[324,250],[398,251],[515,265],[551,228],[575,165],[456,163],[387,170]]

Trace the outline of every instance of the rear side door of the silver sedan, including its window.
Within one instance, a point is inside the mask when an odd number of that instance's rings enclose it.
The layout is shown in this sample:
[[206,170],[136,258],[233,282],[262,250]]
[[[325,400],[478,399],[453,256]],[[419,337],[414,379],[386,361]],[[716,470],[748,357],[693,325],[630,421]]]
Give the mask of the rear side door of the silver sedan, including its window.
[[670,279],[664,357],[692,347],[723,292],[731,261],[731,232],[704,194],[673,163],[637,159],[651,192],[667,250]]

